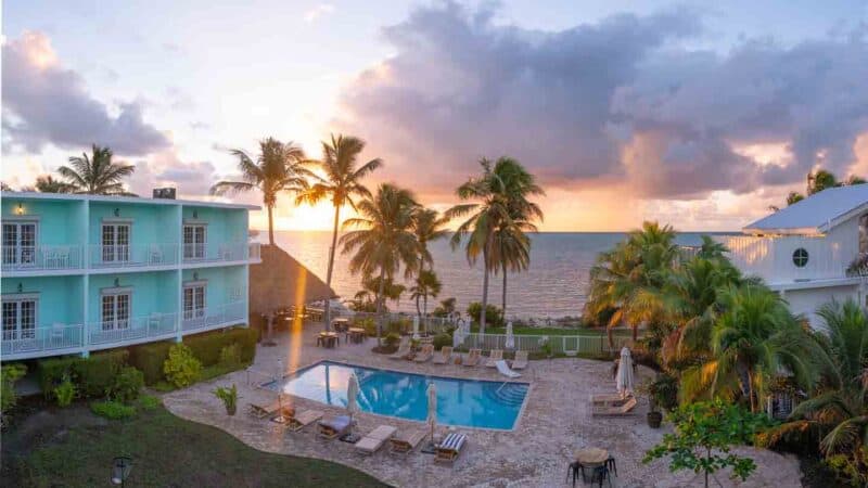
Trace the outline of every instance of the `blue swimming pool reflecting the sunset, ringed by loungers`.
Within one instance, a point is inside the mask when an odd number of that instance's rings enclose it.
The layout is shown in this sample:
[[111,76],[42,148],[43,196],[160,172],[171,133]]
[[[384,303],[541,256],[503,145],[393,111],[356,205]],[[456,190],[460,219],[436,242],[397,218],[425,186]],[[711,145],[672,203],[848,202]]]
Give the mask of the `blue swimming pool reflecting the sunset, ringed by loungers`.
[[[296,371],[265,388],[322,403],[346,406],[347,382],[359,380],[356,397],[363,412],[414,421],[427,418],[426,389],[437,389],[437,423],[477,428],[512,429],[527,397],[527,383],[505,383],[425,376],[321,361]],[[282,385],[282,386],[279,386]]]

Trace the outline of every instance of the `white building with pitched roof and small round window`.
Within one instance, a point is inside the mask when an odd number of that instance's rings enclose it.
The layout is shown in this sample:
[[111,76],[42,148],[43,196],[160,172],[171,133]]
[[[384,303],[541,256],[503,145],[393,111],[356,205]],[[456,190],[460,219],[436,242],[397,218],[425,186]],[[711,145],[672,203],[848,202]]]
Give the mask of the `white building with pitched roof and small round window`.
[[818,324],[817,308],[868,293],[868,184],[824,190],[760,219],[744,235],[718,237],[745,274],[779,292]]

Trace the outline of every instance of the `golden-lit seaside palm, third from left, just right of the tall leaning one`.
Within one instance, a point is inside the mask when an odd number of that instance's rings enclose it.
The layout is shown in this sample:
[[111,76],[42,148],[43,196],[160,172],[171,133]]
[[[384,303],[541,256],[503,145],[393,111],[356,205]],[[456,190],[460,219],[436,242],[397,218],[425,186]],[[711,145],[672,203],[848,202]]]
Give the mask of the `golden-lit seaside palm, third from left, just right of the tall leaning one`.
[[376,304],[376,338],[383,329],[383,293],[386,280],[394,280],[401,267],[410,277],[419,266],[419,244],[412,231],[412,216],[419,204],[409,190],[383,183],[375,195],[355,207],[359,217],[347,219],[344,228],[355,228],[341,236],[343,254],[354,253],[349,271],[376,274],[380,279]]

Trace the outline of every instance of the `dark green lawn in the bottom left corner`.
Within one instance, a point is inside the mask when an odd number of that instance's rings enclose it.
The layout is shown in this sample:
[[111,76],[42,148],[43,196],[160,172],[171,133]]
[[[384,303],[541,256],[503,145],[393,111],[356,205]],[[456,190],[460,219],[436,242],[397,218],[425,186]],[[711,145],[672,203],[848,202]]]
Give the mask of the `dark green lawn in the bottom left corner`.
[[[84,414],[89,412],[79,408],[69,416]],[[65,434],[42,437],[36,445],[33,439],[22,440],[28,444],[21,447],[23,454],[12,460],[4,455],[4,464],[12,466],[4,467],[3,484],[108,486],[112,459],[128,455],[133,463],[130,487],[385,486],[328,461],[257,451],[215,427],[179,419],[162,406],[140,409],[128,420],[85,419],[74,424]],[[4,453],[15,458],[14,451],[4,449]]]

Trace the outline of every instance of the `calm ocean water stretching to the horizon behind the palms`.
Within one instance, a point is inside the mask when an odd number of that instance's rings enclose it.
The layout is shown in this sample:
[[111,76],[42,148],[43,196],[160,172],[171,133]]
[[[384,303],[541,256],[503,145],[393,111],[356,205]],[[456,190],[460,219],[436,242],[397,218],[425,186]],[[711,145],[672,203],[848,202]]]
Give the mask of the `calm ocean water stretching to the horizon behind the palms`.
[[[677,236],[681,245],[698,245],[704,233],[685,232]],[[585,305],[588,270],[597,255],[611,248],[626,236],[623,232],[540,232],[532,235],[531,268],[522,273],[510,273],[507,281],[507,316],[516,318],[559,318],[578,316]],[[260,241],[267,232],[260,232]],[[331,233],[280,231],[275,233],[277,244],[302,261],[307,268],[326,279]],[[340,248],[340,244],[339,244]],[[443,283],[437,298],[429,298],[429,311],[447,297],[456,297],[458,309],[464,310],[471,301],[482,299],[482,267],[470,266],[463,249],[451,251],[448,240],[429,244],[434,257],[434,271]],[[336,254],[332,287],[342,299],[349,299],[361,288],[361,277],[348,270],[349,257]],[[490,277],[488,301],[500,306],[500,275]],[[390,309],[416,311],[409,293]]]

